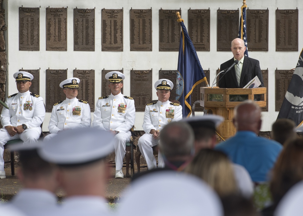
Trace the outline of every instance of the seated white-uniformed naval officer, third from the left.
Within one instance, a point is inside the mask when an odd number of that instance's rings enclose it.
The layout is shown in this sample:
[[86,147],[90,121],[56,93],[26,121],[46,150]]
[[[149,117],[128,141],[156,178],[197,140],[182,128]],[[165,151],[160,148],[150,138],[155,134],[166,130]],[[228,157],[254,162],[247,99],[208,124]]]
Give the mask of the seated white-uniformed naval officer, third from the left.
[[111,71],[105,75],[109,81],[108,87],[111,94],[106,97],[99,97],[94,112],[93,127],[102,130],[110,130],[114,137],[115,147],[115,178],[123,178],[123,158],[125,157],[125,143],[130,142],[131,132],[129,131],[135,123],[135,101],[134,98],[124,96],[121,93],[124,74],[118,71]]

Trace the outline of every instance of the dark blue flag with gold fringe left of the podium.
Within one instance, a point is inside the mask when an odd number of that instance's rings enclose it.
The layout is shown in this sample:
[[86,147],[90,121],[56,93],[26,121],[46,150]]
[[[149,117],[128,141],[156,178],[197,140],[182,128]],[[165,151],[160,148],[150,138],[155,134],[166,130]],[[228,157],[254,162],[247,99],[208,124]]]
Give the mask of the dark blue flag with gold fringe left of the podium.
[[178,74],[176,83],[176,100],[182,106],[182,116],[191,114],[191,93],[194,88],[203,81],[208,84],[201,67],[194,44],[189,38],[183,20],[179,19],[182,31],[180,37]]

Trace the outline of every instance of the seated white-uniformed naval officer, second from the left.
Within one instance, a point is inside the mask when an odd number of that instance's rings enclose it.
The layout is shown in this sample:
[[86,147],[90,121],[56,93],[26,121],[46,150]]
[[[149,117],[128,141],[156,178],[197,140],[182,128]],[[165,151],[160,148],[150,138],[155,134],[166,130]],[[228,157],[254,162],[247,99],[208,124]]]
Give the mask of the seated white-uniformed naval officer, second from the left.
[[80,80],[75,77],[60,83],[66,99],[54,104],[48,125],[51,134],[45,136],[44,140],[52,139],[62,130],[91,126],[92,117],[88,102],[77,99],[79,83]]

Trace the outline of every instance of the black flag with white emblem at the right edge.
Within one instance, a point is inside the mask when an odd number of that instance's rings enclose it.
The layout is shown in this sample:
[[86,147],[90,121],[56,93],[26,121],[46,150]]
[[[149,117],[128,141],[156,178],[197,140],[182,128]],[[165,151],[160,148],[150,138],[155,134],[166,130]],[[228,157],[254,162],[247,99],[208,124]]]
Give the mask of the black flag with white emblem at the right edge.
[[[303,51],[303,49],[302,49]],[[303,53],[300,53],[297,67],[291,77],[285,98],[277,119],[293,120],[297,126],[303,121]]]

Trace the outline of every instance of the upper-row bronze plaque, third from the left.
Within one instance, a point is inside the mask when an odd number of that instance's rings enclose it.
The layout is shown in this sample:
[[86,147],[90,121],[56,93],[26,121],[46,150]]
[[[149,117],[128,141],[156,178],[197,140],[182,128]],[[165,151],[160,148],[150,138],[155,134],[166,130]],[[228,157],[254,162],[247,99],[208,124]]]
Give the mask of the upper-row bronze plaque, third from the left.
[[74,51],[95,51],[95,9],[74,8]]

